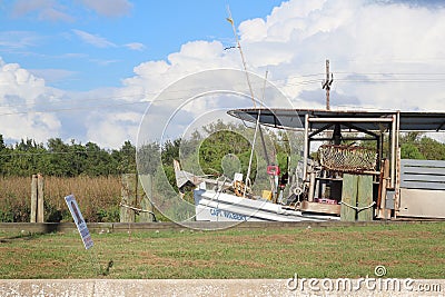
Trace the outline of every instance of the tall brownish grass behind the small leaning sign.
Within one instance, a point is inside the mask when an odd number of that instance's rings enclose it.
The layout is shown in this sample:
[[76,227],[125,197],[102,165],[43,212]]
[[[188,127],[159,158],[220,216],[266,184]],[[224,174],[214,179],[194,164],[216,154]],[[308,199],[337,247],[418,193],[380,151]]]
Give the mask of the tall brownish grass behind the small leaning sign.
[[[70,220],[65,202],[75,195],[87,221],[119,220],[120,177],[44,177],[44,221]],[[0,221],[29,221],[31,177],[0,179]]]

